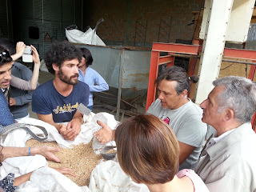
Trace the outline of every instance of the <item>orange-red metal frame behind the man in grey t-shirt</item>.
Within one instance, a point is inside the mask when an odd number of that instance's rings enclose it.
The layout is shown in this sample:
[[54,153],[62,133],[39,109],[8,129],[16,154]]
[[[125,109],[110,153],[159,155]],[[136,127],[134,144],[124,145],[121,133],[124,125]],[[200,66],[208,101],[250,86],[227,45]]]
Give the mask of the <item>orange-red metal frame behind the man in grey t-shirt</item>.
[[[177,43],[159,43],[154,42],[151,51],[151,61],[150,61],[150,75],[149,75],[149,85],[147,91],[146,98],[146,110],[149,108],[152,102],[155,100],[156,87],[154,85],[154,81],[158,76],[158,66],[162,64],[166,64],[167,66],[174,65],[174,56],[171,56],[170,53],[173,54],[190,54],[190,55],[198,55],[198,52],[201,52],[202,46],[199,45],[199,42],[194,42],[198,45],[183,45]],[[167,56],[160,56],[160,52],[168,52]],[[256,51],[255,50],[238,50],[238,49],[230,49],[225,48],[223,51],[223,55],[226,58],[242,58],[249,59],[256,62]],[[194,66],[196,65],[196,58],[190,58],[190,65],[188,74],[194,74]],[[251,65],[250,73],[248,78],[252,81],[254,80],[256,66]],[[256,113],[253,116],[252,126],[256,126]],[[256,129],[255,129],[256,133]]]

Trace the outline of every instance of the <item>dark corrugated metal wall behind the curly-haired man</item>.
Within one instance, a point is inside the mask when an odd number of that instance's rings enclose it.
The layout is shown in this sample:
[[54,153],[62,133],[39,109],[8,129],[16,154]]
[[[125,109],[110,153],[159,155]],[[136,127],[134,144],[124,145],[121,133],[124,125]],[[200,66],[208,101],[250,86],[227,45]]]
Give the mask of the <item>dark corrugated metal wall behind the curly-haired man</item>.
[[[12,6],[16,7],[14,42],[36,46],[41,58],[51,42],[66,38],[66,26],[82,28],[82,0],[19,0],[13,1]],[[39,28],[39,39],[29,38],[30,26]]]

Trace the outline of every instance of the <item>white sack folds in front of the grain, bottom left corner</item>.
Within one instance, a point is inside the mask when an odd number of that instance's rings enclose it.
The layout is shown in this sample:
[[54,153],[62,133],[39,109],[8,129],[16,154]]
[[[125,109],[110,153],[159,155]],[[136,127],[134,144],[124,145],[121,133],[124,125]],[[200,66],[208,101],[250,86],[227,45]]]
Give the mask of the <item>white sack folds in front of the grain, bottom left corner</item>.
[[90,192],[87,186],[77,186],[65,175],[47,165],[46,158],[42,155],[6,158],[0,169],[1,178],[6,177],[9,173],[14,173],[15,177],[18,177],[34,171],[30,181],[22,183],[15,191]]

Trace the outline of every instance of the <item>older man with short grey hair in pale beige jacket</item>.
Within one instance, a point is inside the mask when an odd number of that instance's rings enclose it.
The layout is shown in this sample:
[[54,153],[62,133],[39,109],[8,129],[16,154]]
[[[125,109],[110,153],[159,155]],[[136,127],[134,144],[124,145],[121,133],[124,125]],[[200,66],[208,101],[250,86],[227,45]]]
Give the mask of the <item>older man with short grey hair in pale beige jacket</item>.
[[256,191],[256,134],[250,124],[256,111],[256,84],[234,76],[213,84],[201,107],[202,122],[216,132],[195,172],[210,191]]

